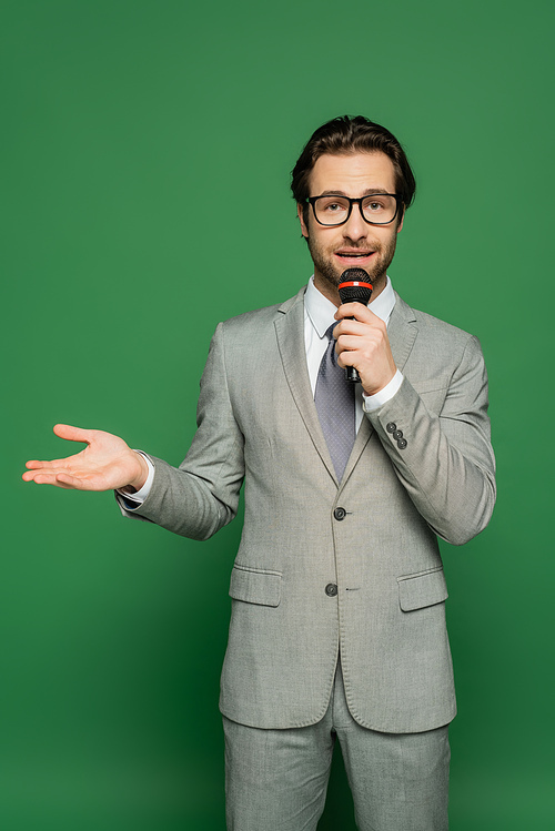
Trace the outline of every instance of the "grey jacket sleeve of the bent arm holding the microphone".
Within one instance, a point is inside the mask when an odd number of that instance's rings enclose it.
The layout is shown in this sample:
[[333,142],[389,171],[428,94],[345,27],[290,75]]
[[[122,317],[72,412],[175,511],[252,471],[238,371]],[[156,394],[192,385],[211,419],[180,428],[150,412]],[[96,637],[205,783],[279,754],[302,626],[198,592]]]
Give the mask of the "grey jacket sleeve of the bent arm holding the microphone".
[[367,414],[418,513],[453,545],[480,534],[495,504],[487,405],[482,349],[468,336],[437,413],[405,377],[393,398]]

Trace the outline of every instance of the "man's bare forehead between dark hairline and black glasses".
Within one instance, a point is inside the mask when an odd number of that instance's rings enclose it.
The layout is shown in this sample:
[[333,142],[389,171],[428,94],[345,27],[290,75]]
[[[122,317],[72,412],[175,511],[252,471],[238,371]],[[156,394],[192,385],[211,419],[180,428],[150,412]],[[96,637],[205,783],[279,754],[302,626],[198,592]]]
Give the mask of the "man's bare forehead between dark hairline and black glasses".
[[316,160],[310,176],[312,196],[325,191],[362,196],[373,188],[395,193],[393,162],[380,151],[345,155],[325,153]]

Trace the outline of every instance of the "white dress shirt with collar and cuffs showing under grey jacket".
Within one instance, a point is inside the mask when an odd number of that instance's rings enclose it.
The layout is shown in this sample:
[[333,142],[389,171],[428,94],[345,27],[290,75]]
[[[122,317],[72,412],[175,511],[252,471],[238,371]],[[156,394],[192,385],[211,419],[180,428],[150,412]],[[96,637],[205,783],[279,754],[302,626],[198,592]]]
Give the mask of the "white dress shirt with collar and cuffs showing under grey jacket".
[[[393,306],[395,305],[395,294],[391,280],[387,277],[387,282],[383,292],[371,303],[369,308],[382,320],[385,325],[389,324]],[[332,323],[335,321],[336,306],[324,297],[314,285],[314,275],[310,278],[304,295],[304,347],[306,349],[306,364],[309,366],[309,377],[311,381],[312,395],[316,389],[316,378],[322,357],[327,347],[327,338],[325,333]],[[365,395],[362,392],[360,384],[356,385],[355,391],[355,417],[356,417],[356,429],[361,426],[361,422],[364,417],[364,412],[371,413],[374,409],[382,407],[385,402],[393,398],[397,389],[403,382],[403,375],[397,372],[390,381],[390,383],[375,395]],[[149,476],[147,482],[140,490],[131,494],[127,490],[118,490],[121,496],[129,501],[130,507],[137,508],[138,505],[144,501],[150,494],[152,487],[152,480],[154,478],[154,466],[149,457],[142,452],[137,450],[141,456],[144,457],[149,466]]]

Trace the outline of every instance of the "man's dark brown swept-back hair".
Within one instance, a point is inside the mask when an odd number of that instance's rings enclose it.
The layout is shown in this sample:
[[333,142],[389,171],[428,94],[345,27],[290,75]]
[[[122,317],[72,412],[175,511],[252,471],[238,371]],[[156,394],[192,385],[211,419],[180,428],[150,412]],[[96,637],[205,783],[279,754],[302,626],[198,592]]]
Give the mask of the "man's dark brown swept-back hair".
[[364,115],[339,115],[319,126],[311,135],[293,168],[291,190],[294,200],[304,206],[305,220],[309,207],[306,200],[310,196],[309,179],[317,159],[324,153],[349,155],[373,151],[385,153],[393,162],[395,192],[403,203],[401,215],[404,213],[414,200],[416,182],[398,141],[384,126],[375,124]]

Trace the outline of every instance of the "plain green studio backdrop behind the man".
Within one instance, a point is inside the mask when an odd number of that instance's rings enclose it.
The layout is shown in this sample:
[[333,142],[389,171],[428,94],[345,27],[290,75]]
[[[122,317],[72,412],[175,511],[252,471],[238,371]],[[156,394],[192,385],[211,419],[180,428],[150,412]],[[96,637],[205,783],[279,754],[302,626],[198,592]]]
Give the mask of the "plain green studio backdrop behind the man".
[[[241,523],[209,543],[26,485],[67,422],[179,464],[220,320],[310,275],[289,172],[363,113],[418,181],[391,268],[478,335],[498,505],[442,545],[452,831],[552,829],[553,3],[1,2],[0,821],[223,829]],[[253,344],[255,348],[255,344]],[[340,759],[321,829],[354,829]]]

